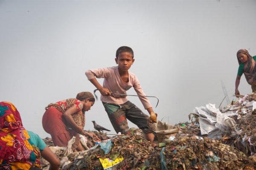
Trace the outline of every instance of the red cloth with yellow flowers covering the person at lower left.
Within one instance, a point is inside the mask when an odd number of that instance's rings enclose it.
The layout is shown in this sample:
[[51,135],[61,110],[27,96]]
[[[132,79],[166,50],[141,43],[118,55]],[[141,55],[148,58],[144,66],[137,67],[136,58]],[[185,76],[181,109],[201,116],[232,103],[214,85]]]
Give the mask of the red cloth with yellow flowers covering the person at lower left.
[[32,146],[20,113],[9,102],[0,102],[0,169],[29,170],[40,167],[40,151]]

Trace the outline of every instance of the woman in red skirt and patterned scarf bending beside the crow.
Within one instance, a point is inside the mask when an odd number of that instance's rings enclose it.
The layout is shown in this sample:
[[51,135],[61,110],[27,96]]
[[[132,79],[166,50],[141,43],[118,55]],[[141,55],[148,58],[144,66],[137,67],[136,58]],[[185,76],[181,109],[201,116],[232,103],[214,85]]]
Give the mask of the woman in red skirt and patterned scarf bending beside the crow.
[[85,111],[89,111],[95,102],[93,94],[81,92],[76,99],[65,99],[49,104],[43,116],[43,128],[52,136],[55,146],[67,147],[73,136],[76,137],[72,145],[73,150],[84,150],[80,143],[79,134],[87,135],[100,140],[95,133],[83,130],[85,125]]

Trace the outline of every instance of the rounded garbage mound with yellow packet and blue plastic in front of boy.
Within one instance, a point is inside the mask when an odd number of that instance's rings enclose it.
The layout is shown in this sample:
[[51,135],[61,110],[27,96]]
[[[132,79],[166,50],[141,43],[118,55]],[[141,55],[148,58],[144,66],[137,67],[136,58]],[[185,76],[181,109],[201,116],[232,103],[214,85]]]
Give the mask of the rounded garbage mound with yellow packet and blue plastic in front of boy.
[[90,150],[73,153],[63,170],[141,169],[154,148],[143,137],[118,135]]

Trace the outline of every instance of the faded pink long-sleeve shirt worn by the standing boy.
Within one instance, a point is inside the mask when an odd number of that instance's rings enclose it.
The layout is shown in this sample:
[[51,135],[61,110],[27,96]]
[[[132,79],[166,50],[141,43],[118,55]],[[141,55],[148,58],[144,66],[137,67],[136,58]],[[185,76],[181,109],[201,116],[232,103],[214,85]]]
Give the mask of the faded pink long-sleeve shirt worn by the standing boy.
[[[104,78],[103,87],[108,88],[112,93],[126,94],[131,87],[134,87],[138,96],[146,96],[141,88],[140,82],[135,74],[128,71],[129,82],[123,82],[118,71],[118,66],[108,68],[98,68],[85,72],[88,80],[93,78]],[[128,101],[126,96],[112,94],[113,96],[100,97],[102,102],[121,105]],[[151,104],[147,97],[139,97],[145,109],[151,108]]]

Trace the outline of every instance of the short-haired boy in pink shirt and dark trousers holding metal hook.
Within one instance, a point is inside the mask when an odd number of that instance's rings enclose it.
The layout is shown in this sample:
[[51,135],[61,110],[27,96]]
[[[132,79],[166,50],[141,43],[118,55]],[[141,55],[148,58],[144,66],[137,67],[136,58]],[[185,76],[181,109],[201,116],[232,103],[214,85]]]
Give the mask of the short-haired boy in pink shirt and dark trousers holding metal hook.
[[[131,103],[126,96],[117,95],[126,94],[126,91],[133,87],[148,113],[154,112],[136,75],[129,71],[134,63],[134,52],[130,47],[119,47],[116,51],[115,60],[118,66],[88,70],[85,75],[100,91],[100,99],[116,133],[131,133],[128,127],[128,119],[143,130],[147,140],[154,147],[156,146],[153,142],[154,131],[149,125],[149,123],[154,122],[149,121],[149,116]],[[99,84],[95,77],[104,78],[103,86]]]

